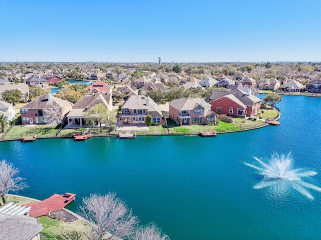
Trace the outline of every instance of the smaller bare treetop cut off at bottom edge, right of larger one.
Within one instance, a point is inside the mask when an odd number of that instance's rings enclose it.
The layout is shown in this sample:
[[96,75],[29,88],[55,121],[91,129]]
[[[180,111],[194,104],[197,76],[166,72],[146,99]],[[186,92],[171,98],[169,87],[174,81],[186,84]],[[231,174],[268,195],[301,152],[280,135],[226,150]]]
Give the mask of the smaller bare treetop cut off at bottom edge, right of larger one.
[[145,226],[138,226],[130,240],[163,240],[168,235],[165,235],[161,228],[157,227],[154,223],[149,223]]

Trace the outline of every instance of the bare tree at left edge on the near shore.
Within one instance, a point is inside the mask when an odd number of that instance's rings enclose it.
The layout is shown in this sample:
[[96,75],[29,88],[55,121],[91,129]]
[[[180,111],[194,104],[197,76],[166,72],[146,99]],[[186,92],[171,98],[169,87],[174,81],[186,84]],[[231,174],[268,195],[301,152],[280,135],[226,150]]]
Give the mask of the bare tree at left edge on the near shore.
[[25,178],[17,176],[19,169],[15,168],[12,163],[7,163],[6,160],[0,161],[0,196],[4,204],[7,204],[7,194],[9,191],[17,192],[27,187],[23,182]]

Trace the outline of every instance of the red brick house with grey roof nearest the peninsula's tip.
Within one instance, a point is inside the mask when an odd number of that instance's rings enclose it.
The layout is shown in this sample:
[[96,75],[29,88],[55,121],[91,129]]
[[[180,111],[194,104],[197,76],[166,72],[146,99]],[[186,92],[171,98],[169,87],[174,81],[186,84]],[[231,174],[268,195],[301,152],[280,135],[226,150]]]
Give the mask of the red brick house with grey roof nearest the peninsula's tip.
[[212,111],[231,116],[256,115],[261,109],[261,98],[239,84],[226,88],[226,91],[213,91],[209,103]]

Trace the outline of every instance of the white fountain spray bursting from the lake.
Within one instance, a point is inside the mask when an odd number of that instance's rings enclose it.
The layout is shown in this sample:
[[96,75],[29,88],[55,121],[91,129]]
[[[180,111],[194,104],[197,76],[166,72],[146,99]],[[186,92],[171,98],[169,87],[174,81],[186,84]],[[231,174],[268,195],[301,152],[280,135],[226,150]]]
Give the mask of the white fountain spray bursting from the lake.
[[317,172],[305,168],[293,169],[290,155],[290,153],[286,156],[284,154],[279,155],[278,153],[274,153],[268,164],[254,157],[254,159],[260,163],[260,166],[244,162],[246,165],[258,170],[258,174],[263,175],[262,181],[256,184],[254,188],[270,187],[278,192],[282,192],[284,189],[292,187],[299,193],[313,200],[314,197],[307,188],[321,192],[321,187],[307,183],[303,181],[301,177],[313,176],[317,174]]

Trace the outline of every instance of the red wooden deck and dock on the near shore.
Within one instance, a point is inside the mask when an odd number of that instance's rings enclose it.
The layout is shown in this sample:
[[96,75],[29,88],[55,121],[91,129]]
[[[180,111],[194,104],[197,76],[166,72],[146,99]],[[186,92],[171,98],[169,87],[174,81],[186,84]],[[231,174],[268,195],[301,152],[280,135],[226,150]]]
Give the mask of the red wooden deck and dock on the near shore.
[[29,212],[30,216],[44,216],[49,212],[56,211],[65,207],[71,201],[75,200],[75,196],[76,194],[69,192],[66,192],[65,194],[54,193],[51,197],[45,200],[29,203],[23,206],[31,206]]

